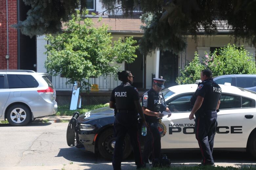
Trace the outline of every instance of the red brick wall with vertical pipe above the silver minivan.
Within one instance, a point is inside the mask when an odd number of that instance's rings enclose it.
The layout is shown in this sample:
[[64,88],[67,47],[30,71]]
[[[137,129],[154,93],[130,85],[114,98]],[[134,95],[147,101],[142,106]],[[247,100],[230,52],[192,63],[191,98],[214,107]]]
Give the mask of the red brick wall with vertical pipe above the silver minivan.
[[[7,22],[6,0],[0,0],[0,69],[7,69]],[[17,69],[17,29],[11,27],[17,23],[17,0],[8,0],[8,26],[9,26],[9,69]]]

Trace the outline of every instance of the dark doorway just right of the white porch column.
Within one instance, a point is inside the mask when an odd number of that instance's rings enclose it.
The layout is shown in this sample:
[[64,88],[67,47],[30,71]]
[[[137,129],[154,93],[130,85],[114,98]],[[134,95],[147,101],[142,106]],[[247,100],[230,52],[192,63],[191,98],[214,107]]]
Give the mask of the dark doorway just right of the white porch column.
[[177,85],[175,80],[178,77],[178,66],[179,56],[177,54],[170,51],[160,51],[159,78],[162,76],[166,80],[164,83],[166,88]]

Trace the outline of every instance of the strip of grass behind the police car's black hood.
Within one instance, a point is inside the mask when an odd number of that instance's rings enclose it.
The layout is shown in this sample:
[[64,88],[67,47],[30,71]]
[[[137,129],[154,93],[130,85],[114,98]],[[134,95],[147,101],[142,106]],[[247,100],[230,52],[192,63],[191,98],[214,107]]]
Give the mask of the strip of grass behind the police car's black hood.
[[69,106],[58,106],[58,111],[55,115],[57,116],[72,116],[74,112],[78,111],[80,114],[85,113],[90,110],[102,108],[108,106],[107,104],[99,104],[99,105],[87,105],[87,106],[82,106],[81,109],[76,109],[76,110],[69,110]]

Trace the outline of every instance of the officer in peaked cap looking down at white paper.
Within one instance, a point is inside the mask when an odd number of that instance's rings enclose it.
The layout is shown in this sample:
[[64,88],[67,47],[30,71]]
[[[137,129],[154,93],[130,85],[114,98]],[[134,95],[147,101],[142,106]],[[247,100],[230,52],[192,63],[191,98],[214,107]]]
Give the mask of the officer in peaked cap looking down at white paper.
[[[159,118],[163,117],[161,112],[170,110],[166,107],[165,99],[160,92],[164,88],[164,79],[153,78],[152,88],[143,94],[142,110],[148,123],[146,141],[144,144],[144,150],[142,154],[142,160],[144,163],[149,163],[148,158],[152,153],[153,166],[158,166],[160,162],[161,152],[161,136],[158,130]],[[171,116],[171,112],[168,117]]]

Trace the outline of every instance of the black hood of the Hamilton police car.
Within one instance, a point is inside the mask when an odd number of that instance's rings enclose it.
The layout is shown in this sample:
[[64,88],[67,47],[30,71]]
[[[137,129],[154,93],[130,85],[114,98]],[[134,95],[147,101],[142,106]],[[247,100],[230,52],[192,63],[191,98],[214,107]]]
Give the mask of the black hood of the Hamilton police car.
[[109,107],[99,108],[96,110],[91,110],[86,113],[81,114],[77,118],[77,122],[84,122],[92,119],[102,118],[102,117],[114,117],[114,109],[110,109]]

